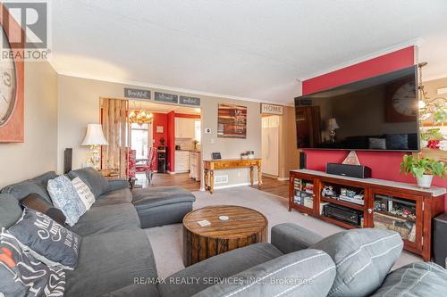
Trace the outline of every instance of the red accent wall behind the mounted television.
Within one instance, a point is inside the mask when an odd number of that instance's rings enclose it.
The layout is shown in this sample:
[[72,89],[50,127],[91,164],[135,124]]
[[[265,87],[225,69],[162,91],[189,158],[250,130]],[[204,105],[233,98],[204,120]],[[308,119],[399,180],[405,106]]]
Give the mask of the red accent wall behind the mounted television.
[[[303,95],[308,95],[332,87],[341,86],[356,80],[370,78],[386,72],[400,70],[414,65],[415,47],[409,46],[390,54],[384,54],[365,62],[335,70],[316,78],[303,81]],[[306,151],[307,168],[325,170],[326,162],[342,162],[349,152],[346,151]],[[412,176],[400,174],[401,160],[404,153],[357,152],[363,165],[373,170],[373,177],[393,181],[415,183]],[[447,186],[446,181],[435,177],[434,186]],[[447,201],[445,202],[447,210]]]

